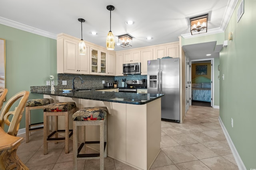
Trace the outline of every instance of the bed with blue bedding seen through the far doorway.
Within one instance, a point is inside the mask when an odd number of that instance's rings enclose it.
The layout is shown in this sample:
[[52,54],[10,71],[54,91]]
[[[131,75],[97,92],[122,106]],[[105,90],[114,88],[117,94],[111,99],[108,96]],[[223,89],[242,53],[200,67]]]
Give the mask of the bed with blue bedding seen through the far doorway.
[[[200,82],[200,81],[204,81],[204,82]],[[206,80],[206,78],[200,78],[200,77],[197,78],[197,80],[192,80],[192,84],[191,84],[192,100],[202,101],[202,102],[211,102],[211,83],[209,81],[210,81],[209,79]]]

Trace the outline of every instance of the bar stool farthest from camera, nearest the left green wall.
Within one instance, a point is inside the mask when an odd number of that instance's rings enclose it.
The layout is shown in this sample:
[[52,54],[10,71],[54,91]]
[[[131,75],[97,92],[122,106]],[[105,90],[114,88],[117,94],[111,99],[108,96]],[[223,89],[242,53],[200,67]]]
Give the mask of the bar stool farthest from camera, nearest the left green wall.
[[[44,122],[39,123],[31,123],[31,112],[30,110],[36,110],[36,109],[44,109],[44,106],[52,103],[50,99],[44,98],[44,99],[30,99],[26,102],[26,143],[29,142],[29,135],[31,135],[30,132],[32,131],[38,131],[40,129],[43,129],[43,126],[40,127],[34,127],[43,125]],[[38,112],[36,112],[38,113]],[[34,128],[32,128],[34,127]]]

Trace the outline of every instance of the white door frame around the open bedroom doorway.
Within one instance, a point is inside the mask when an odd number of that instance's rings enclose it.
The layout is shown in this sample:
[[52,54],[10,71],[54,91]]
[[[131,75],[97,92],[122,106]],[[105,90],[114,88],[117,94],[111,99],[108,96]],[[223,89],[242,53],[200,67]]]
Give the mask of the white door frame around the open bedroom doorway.
[[[197,60],[190,60],[190,64],[194,61],[211,61],[211,107],[214,107],[214,58],[210,59],[197,59]],[[190,81],[191,81],[191,72],[190,72]],[[190,98],[192,94],[190,92]],[[192,104],[192,100],[190,100],[190,105]]]

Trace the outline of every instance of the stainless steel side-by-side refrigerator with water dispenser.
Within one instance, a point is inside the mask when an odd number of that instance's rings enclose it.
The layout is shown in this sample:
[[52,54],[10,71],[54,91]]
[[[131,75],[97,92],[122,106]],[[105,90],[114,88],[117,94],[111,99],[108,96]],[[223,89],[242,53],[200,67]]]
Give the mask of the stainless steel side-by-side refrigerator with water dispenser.
[[163,120],[180,123],[180,59],[148,61],[148,93],[164,94],[161,98]]

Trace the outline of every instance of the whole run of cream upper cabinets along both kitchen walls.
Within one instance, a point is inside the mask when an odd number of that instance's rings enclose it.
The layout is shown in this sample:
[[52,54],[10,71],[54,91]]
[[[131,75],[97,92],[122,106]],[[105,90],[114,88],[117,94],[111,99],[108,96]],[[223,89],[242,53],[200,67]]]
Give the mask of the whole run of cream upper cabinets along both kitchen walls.
[[123,76],[123,64],[141,63],[141,74],[147,74],[147,61],[162,57],[179,57],[179,42],[108,51],[86,42],[86,55],[78,54],[80,39],[60,33],[57,37],[57,73]]

